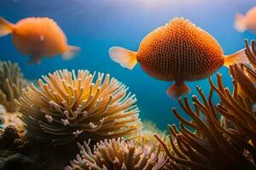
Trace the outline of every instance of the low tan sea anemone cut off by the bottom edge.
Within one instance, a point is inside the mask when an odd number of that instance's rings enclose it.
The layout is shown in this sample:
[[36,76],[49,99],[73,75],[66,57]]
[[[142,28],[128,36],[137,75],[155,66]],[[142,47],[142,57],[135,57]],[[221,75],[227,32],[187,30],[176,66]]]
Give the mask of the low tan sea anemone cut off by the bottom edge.
[[74,169],[160,169],[167,161],[160,152],[160,144],[139,145],[135,140],[105,139],[94,146],[94,152],[88,143],[79,145],[80,154],[70,162],[66,170]]

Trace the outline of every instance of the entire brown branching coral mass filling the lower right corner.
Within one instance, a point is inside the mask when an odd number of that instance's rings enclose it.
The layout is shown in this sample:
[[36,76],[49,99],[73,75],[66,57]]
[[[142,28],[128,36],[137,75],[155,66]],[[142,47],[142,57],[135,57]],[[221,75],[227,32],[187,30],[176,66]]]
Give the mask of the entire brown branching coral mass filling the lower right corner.
[[[248,59],[256,61],[255,42],[252,42],[252,49],[247,42],[246,45]],[[209,79],[211,89],[208,99],[198,87],[201,99],[194,95],[192,105],[188,98],[178,99],[179,105],[192,121],[184,119],[176,109],[172,109],[180,121],[180,130],[175,125],[170,126],[172,152],[155,135],[172,160],[168,164],[170,169],[256,168],[256,117],[253,111],[256,74],[244,64],[231,65],[230,73],[234,78],[232,94],[229,88],[224,88],[222,77],[218,74],[217,85]],[[212,103],[213,91],[220,98],[218,105]]]

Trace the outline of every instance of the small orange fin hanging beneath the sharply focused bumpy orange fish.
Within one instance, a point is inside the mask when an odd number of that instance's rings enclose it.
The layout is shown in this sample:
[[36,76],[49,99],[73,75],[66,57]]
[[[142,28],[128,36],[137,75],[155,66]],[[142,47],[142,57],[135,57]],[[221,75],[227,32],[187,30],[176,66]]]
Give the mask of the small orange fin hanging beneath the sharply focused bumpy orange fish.
[[189,94],[190,91],[190,88],[184,82],[174,82],[172,86],[166,90],[166,94],[172,99],[176,99],[179,96]]

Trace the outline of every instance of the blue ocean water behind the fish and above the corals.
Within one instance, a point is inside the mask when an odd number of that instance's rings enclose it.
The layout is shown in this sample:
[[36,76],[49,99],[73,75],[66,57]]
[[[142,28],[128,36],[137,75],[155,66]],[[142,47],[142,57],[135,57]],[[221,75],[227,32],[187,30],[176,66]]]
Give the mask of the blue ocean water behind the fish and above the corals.
[[[177,100],[166,95],[172,82],[149,77],[139,65],[132,71],[120,67],[109,58],[108,48],[118,45],[137,51],[150,31],[182,16],[212,34],[224,54],[232,54],[244,48],[245,38],[255,38],[249,31],[239,33],[233,28],[235,14],[245,14],[255,4],[255,0],[0,0],[0,16],[5,19],[15,23],[26,17],[48,16],[65,31],[70,45],[82,48],[70,61],[56,56],[43,59],[40,65],[28,65],[28,57],[20,54],[7,36],[0,37],[0,59],[18,62],[25,77],[32,80],[63,68],[109,73],[137,94],[142,119],[166,129],[167,124],[177,123],[172,107],[182,113]],[[224,85],[231,88],[228,69],[222,67],[218,72],[224,75]],[[187,84],[192,90],[189,98],[197,94],[196,85],[208,94],[207,79]],[[218,97],[213,100],[218,102]]]

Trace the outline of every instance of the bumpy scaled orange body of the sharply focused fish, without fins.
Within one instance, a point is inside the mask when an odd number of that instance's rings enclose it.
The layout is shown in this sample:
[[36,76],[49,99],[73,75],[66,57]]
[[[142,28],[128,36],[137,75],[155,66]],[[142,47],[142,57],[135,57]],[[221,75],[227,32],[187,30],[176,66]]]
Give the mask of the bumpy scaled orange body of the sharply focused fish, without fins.
[[177,18],[143,39],[137,60],[152,77],[195,81],[224,65],[224,54],[207,31],[189,20]]

